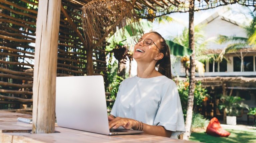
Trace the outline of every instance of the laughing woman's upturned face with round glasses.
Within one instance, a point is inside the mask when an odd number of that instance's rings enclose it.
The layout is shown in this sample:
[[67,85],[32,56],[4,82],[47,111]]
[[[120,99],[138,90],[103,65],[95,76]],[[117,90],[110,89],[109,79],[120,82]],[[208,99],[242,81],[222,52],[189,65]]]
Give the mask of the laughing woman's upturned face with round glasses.
[[[145,62],[151,62],[154,59],[159,59],[158,55],[160,53],[160,50],[158,48],[160,48],[161,39],[154,33],[146,33],[141,38],[142,40],[134,46],[133,58],[136,61],[145,61]],[[143,41],[146,38],[152,39],[156,45],[153,42],[151,42],[151,44],[149,44],[148,46],[145,46],[143,44]]]

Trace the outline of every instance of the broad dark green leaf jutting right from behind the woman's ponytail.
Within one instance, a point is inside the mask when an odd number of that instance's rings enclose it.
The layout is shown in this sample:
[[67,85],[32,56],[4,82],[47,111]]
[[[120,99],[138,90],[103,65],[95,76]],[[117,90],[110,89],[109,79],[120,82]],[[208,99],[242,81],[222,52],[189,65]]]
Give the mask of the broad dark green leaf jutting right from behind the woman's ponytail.
[[174,56],[190,56],[192,54],[192,50],[182,46],[180,44],[177,44],[173,41],[166,40],[167,45],[170,48],[170,54]]

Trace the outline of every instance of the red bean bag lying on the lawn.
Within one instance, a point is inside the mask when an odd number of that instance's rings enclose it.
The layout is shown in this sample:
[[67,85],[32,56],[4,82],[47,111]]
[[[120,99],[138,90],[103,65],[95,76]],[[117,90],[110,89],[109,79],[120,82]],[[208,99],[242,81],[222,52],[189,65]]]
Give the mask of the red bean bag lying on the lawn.
[[209,135],[218,136],[218,137],[228,137],[230,135],[230,132],[224,130],[220,126],[220,122],[216,117],[210,120],[210,123],[206,129],[206,133]]

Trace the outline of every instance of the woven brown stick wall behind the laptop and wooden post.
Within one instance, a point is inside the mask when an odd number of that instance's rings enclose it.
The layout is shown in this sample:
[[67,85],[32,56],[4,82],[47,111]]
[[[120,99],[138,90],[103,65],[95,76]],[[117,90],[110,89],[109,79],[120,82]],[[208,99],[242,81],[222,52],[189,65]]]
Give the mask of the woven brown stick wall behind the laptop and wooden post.
[[[83,36],[80,7],[68,0],[62,5]],[[34,0],[0,0],[0,109],[32,104],[37,8]],[[93,50],[94,75],[106,77],[107,44]],[[61,12],[57,76],[81,75],[86,75],[86,51]]]

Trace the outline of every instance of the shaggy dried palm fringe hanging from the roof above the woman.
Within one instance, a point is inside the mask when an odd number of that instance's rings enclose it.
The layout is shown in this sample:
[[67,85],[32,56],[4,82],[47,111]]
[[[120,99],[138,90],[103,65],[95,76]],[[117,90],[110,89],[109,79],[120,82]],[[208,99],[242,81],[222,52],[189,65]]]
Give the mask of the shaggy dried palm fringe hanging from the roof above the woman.
[[132,4],[125,0],[93,0],[87,3],[83,6],[82,24],[87,44],[125,26],[129,26],[130,33],[123,30],[122,36],[143,33]]

